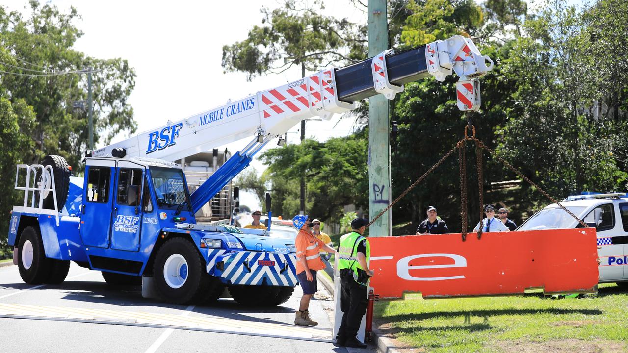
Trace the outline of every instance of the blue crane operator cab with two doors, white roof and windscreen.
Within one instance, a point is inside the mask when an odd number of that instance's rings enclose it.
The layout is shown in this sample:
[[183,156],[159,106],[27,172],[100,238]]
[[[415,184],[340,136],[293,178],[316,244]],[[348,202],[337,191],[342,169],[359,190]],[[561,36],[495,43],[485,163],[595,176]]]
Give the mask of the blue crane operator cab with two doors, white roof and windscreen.
[[139,251],[161,228],[194,220],[181,167],[149,158],[87,158],[81,211],[84,244],[103,252]]

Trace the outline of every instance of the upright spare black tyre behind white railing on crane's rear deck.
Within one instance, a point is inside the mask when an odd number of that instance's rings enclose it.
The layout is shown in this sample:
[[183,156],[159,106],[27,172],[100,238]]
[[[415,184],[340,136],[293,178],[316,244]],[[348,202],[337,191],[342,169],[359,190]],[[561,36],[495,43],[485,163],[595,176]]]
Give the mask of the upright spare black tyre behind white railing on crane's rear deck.
[[[43,166],[52,166],[55,175],[55,190],[57,191],[57,210],[61,211],[63,205],[65,205],[65,200],[68,198],[68,190],[70,188],[70,175],[72,171],[68,168],[68,162],[62,156],[50,155],[45,156],[40,164]],[[47,171],[45,174],[42,174],[41,171],[38,170],[35,175],[35,181],[39,183],[50,180],[49,175],[50,173]],[[50,187],[50,183],[47,183],[46,187]],[[42,195],[40,195],[40,192],[35,192],[35,197],[37,202],[39,202],[39,198],[42,197]],[[49,210],[55,209],[55,198],[51,192],[44,193],[42,207]]]

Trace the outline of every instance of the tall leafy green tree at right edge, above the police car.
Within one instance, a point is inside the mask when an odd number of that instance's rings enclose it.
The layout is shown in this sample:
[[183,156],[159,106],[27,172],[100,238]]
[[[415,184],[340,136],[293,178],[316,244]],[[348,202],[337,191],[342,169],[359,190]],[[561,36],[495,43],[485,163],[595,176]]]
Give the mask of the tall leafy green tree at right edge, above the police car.
[[[591,36],[598,20],[587,23],[585,18],[564,1],[551,1],[526,21],[528,36],[517,38],[504,60],[503,73],[516,80],[516,91],[514,104],[506,108],[506,124],[499,129],[499,151],[556,197],[622,190],[628,181],[625,160],[616,154],[625,151],[625,139],[618,138],[625,123],[596,108],[622,88],[610,75],[599,76],[613,68],[595,70],[600,64],[594,64],[592,53],[600,50],[593,47],[610,48]],[[600,87],[607,88],[605,96]]]

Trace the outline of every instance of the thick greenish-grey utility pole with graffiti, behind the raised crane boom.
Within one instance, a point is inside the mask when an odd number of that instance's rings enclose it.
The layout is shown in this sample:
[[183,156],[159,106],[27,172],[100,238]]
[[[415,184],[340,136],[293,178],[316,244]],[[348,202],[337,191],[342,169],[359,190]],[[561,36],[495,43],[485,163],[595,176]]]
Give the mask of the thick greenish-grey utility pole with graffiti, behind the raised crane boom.
[[[388,49],[386,0],[369,0],[369,57]],[[369,219],[374,219],[391,201],[388,99],[382,94],[369,98]],[[392,233],[391,210],[370,227],[370,236]]]

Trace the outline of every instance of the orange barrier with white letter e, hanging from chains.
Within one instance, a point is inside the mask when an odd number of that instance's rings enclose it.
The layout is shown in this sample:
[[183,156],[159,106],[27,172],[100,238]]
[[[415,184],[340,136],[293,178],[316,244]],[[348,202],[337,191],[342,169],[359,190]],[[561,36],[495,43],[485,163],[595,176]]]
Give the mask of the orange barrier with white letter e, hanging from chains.
[[595,229],[372,237],[381,298],[509,295],[529,288],[587,293],[598,282]]

